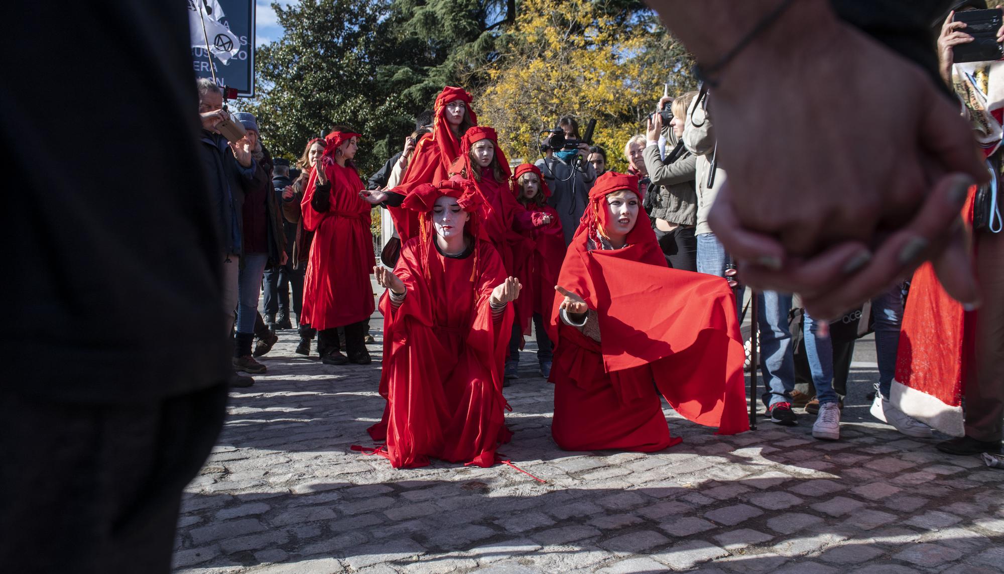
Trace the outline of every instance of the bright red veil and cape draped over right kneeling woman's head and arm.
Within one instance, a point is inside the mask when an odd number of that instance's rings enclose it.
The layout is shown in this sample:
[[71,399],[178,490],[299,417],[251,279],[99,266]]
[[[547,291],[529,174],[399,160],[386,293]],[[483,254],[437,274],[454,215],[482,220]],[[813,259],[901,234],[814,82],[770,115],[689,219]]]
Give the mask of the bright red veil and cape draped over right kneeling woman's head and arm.
[[[589,238],[598,247],[604,236],[606,196],[620,190],[638,195],[638,178],[607,172],[596,179],[558,277],[558,285],[577,293],[597,313],[602,363],[588,368],[636,376],[633,369],[651,365],[659,390],[681,415],[718,426],[721,435],[747,430],[745,351],[735,296],[725,279],[668,268],[641,197],[626,246],[589,249]],[[550,321],[558,348],[569,344],[566,334],[572,344],[575,336],[581,337],[560,322],[562,300],[555,294]],[[552,378],[560,370],[552,371]]]

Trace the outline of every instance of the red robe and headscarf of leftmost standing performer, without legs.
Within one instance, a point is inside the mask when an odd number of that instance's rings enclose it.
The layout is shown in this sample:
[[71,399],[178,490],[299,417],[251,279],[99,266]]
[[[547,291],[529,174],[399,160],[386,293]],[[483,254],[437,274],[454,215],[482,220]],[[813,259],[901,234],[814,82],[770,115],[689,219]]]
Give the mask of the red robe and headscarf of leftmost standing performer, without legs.
[[300,202],[303,228],[314,232],[303,282],[301,319],[315,329],[357,323],[367,319],[375,307],[369,284],[369,273],[376,264],[369,231],[371,206],[359,197],[364,186],[353,168],[331,163],[324,173],[331,182],[330,209],[319,214],[310,206],[316,172],[311,174]]

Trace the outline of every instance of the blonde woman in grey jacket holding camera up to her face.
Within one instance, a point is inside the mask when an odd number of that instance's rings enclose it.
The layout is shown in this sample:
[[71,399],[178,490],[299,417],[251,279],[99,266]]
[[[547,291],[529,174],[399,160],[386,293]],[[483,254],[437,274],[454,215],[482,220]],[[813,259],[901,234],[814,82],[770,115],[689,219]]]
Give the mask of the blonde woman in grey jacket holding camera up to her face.
[[[645,210],[652,218],[659,247],[666,256],[667,263],[674,269],[697,271],[697,190],[694,179],[697,174],[697,157],[682,150],[682,154],[672,164],[665,163],[660,156],[660,135],[671,146],[677,146],[684,134],[687,107],[697,95],[689,91],[672,100],[660,100],[662,109],[654,113],[648,121],[646,148],[644,152],[646,171],[651,183],[645,196]],[[664,111],[665,110],[665,111]],[[670,112],[667,114],[666,112]],[[670,116],[665,124],[666,115]]]

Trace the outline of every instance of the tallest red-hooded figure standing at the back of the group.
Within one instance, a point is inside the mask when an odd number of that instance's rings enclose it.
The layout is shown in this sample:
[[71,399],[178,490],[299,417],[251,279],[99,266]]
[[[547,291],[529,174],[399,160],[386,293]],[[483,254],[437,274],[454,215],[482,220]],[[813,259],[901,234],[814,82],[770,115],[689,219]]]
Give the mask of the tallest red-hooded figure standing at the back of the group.
[[[452,123],[453,115],[448,105],[463,102],[464,115],[459,123]],[[456,105],[456,104],[455,104]],[[408,169],[401,184],[394,192],[408,195],[423,184],[438,184],[450,178],[450,167],[460,157],[460,138],[471,125],[478,124],[478,115],[471,109],[471,94],[463,88],[446,86],[436,97],[433,109],[433,132],[423,135],[415,146]],[[390,207],[394,229],[404,243],[419,233],[419,217],[404,207]]]

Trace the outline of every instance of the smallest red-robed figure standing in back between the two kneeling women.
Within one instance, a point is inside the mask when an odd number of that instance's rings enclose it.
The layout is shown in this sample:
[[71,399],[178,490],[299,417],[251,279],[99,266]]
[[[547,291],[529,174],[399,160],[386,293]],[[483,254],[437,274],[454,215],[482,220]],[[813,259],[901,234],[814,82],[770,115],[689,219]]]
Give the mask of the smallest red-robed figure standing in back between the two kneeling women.
[[564,235],[557,211],[547,205],[551,191],[543,175],[533,164],[516,167],[512,178],[512,194],[521,210],[513,218],[513,227],[526,238],[514,250],[516,277],[523,291],[516,300],[516,320],[513,337],[509,342],[506,373],[516,373],[519,366],[519,349],[523,335],[530,334],[532,321],[537,337],[537,364],[547,378],[551,372],[552,345],[547,338],[545,318],[551,317],[554,304],[554,285],[565,256]]

